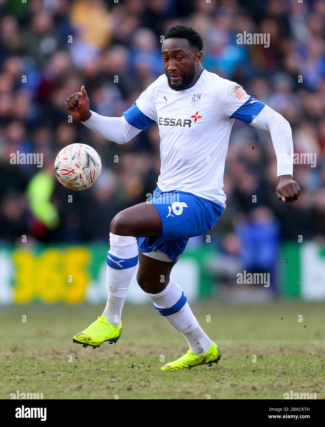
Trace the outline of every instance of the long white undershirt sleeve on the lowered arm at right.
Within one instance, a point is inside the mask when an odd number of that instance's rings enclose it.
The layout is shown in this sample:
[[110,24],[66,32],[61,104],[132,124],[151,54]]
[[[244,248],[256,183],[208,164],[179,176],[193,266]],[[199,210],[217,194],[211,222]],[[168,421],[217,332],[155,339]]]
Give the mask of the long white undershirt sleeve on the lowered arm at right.
[[278,174],[293,175],[293,142],[289,122],[267,105],[250,123],[255,128],[270,132],[276,160]]

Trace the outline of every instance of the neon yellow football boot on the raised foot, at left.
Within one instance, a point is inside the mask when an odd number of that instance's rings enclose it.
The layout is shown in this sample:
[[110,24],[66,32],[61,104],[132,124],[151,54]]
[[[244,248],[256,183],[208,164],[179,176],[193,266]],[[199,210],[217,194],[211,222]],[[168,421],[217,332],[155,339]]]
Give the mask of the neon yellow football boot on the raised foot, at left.
[[76,333],[72,341],[76,344],[82,344],[83,347],[91,345],[93,348],[99,347],[103,342],[108,341],[110,344],[115,343],[122,332],[122,322],[119,326],[111,325],[106,316],[98,316],[88,328],[82,332]]

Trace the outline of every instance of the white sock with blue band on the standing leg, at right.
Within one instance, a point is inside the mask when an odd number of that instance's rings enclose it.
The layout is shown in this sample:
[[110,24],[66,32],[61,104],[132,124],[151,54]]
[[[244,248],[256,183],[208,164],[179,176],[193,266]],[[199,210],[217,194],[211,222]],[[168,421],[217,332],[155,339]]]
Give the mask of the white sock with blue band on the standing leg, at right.
[[158,294],[146,293],[157,312],[166,319],[176,332],[181,332],[194,354],[203,354],[209,350],[212,343],[200,327],[189,307],[185,292],[169,278],[168,285]]

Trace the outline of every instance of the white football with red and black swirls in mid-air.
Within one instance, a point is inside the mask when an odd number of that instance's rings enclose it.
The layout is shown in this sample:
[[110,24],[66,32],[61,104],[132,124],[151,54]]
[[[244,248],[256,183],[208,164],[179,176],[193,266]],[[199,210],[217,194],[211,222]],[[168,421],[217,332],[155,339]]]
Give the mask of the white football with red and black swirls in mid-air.
[[85,190],[99,178],[102,161],[93,147],[81,143],[70,144],[56,156],[54,172],[64,187]]

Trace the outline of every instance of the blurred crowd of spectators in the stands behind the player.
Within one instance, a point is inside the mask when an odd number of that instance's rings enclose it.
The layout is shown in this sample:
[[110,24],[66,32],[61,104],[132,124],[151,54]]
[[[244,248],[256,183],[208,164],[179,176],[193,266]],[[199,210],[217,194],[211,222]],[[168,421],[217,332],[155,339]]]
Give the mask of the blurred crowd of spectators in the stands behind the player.
[[[44,243],[108,242],[113,216],[153,193],[157,126],[117,145],[68,123],[64,102],[85,85],[92,110],[121,116],[163,73],[161,36],[176,24],[201,34],[203,67],[279,111],[292,127],[295,152],[317,159],[316,167],[294,166],[299,200],[279,202],[270,135],[235,121],[227,208],[212,245],[241,257],[248,270],[274,263],[281,240],[324,238],[323,0],[0,0],[0,243],[21,242],[23,235]],[[270,33],[270,47],[237,44],[245,30]],[[93,146],[102,158],[102,175],[90,190],[71,192],[53,173],[58,151],[74,142]],[[43,153],[44,166],[9,163],[17,151]],[[189,244],[200,241],[206,238]]]

